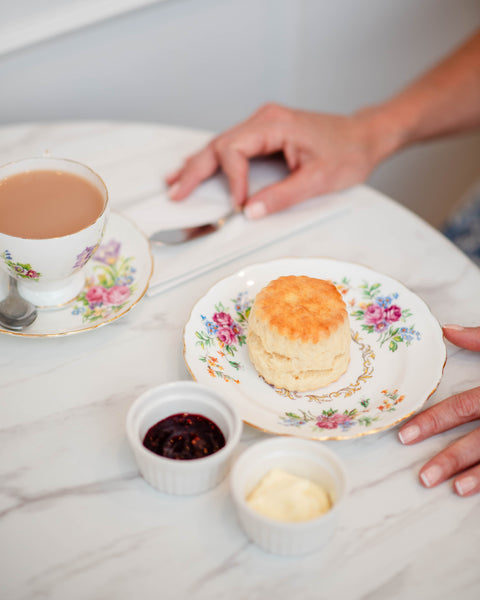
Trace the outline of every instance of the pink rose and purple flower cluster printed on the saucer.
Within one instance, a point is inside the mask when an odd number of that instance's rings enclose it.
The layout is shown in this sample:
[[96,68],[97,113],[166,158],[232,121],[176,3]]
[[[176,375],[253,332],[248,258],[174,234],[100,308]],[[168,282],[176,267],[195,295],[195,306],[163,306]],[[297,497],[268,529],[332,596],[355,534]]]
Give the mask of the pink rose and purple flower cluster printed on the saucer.
[[88,278],[72,314],[83,321],[108,319],[126,306],[136,289],[133,257],[120,255],[121,243],[110,240],[93,255],[96,277]]

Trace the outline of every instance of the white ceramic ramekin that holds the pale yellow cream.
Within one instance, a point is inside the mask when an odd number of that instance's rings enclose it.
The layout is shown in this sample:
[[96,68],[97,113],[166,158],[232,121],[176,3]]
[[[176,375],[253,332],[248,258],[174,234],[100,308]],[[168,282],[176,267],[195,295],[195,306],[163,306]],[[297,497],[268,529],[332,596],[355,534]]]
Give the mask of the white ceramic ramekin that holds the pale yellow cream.
[[[286,523],[253,510],[247,496],[274,467],[320,484],[329,494],[332,508],[316,519]],[[240,523],[262,549],[283,556],[320,550],[330,540],[347,493],[345,469],[337,456],[321,442],[277,437],[254,444],[236,460],[230,484]]]

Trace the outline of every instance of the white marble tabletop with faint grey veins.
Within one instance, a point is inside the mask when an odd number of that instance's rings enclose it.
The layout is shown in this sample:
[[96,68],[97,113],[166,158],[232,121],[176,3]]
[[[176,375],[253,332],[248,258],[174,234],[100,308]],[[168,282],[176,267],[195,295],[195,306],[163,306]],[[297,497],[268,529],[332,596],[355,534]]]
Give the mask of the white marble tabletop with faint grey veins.
[[[206,138],[145,124],[21,125],[0,130],[0,163],[45,150],[84,161],[106,180],[115,210],[148,197]],[[441,323],[480,323],[478,268],[367,188],[335,221],[146,296],[108,326],[51,339],[0,335],[2,599],[480,597],[480,496],[459,498],[449,483],[426,490],[417,479],[474,424],[412,447],[396,427],[326,442],[345,461],[351,491],[328,549],[302,558],[247,540],[227,481],[177,498],[139,476],[125,415],[147,388],[189,378],[182,331],[193,303],[242,266],[282,256],[362,263],[401,280]],[[428,404],[478,385],[479,365],[480,356],[449,345]],[[240,450],[264,437],[245,426]]]

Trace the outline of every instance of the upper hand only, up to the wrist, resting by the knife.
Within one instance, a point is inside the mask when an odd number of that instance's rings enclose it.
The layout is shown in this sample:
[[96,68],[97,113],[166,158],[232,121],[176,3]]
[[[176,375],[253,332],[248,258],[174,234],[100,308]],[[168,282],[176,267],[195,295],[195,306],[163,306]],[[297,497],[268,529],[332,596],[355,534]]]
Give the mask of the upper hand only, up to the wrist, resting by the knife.
[[[266,105],[169,175],[170,198],[183,200],[218,168],[228,178],[234,206],[244,206],[249,218],[345,189],[364,181],[380,160],[381,134],[370,116],[371,111],[344,117]],[[291,174],[248,197],[249,158],[279,151]]]

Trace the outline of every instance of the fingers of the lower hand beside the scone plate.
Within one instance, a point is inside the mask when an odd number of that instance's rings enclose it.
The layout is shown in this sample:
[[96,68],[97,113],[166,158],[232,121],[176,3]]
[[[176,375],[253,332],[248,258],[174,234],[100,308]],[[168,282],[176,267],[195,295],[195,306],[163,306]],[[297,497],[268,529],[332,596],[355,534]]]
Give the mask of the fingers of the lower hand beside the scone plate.
[[[455,345],[480,351],[480,327],[447,325],[443,332]],[[403,444],[412,444],[476,419],[480,419],[480,386],[424,410],[403,425],[398,435]],[[423,485],[433,487],[455,475],[457,494],[480,492],[480,426],[429,460],[419,476]]]

